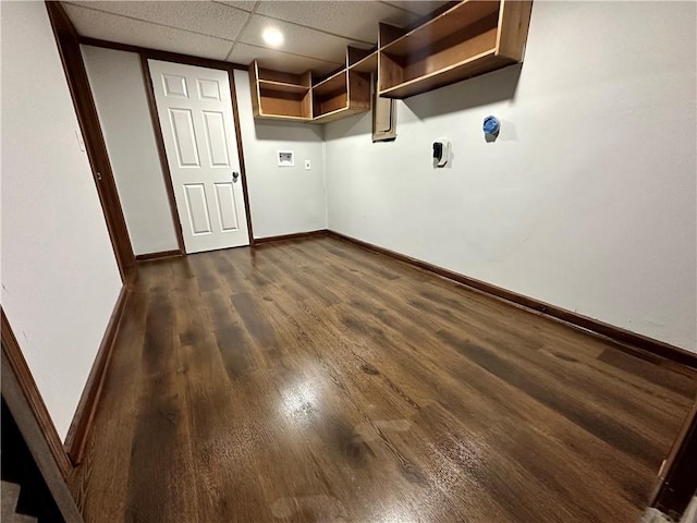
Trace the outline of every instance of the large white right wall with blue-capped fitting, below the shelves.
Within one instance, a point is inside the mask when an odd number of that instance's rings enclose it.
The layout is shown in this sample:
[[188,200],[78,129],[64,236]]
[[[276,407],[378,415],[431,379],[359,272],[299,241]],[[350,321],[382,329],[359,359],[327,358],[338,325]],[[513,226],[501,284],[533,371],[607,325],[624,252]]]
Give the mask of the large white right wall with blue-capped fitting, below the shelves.
[[400,102],[392,144],[329,124],[329,228],[697,351],[696,8],[535,2],[519,80]]

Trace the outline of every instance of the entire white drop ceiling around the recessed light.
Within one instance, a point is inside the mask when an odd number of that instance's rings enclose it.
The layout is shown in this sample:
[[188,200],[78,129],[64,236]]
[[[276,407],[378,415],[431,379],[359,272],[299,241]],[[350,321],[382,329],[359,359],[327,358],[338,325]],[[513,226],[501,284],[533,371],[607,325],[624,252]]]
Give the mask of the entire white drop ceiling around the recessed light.
[[[0,0],[2,1],[2,0]],[[369,48],[378,22],[414,23],[445,1],[100,1],[63,2],[77,32],[86,37],[248,63],[271,69],[326,74],[344,63],[346,46]],[[261,33],[276,27],[278,48]]]

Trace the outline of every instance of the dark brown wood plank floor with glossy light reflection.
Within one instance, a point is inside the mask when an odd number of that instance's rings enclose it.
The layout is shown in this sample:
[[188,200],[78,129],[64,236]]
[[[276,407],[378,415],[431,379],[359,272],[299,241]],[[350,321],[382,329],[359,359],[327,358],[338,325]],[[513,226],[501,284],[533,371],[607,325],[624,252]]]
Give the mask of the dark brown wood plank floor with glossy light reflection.
[[635,522],[695,374],[329,238],[142,265],[87,523]]

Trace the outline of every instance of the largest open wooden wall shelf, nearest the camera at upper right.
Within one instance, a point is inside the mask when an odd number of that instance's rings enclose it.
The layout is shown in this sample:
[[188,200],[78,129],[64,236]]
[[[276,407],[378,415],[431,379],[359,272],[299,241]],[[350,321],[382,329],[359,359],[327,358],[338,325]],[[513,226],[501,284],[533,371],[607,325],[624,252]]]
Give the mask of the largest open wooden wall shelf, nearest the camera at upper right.
[[380,24],[378,93],[406,98],[523,58],[531,1],[465,0],[399,36]]

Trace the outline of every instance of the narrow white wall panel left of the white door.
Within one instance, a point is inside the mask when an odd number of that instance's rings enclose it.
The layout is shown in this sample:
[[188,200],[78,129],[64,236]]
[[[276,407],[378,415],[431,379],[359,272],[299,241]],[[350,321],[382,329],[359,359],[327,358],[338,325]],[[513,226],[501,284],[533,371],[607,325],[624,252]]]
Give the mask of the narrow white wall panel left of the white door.
[[135,254],[179,250],[140,57],[81,46]]

